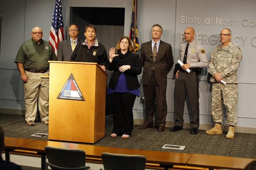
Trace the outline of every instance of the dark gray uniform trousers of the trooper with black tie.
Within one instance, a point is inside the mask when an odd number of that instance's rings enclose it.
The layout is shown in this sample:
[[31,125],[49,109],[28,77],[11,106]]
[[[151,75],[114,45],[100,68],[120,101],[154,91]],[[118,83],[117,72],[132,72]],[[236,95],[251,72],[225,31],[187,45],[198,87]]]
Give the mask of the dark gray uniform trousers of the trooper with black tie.
[[196,72],[179,72],[179,77],[175,81],[174,96],[175,96],[175,125],[183,126],[183,113],[186,94],[188,95],[191,122],[190,128],[199,127],[199,76]]

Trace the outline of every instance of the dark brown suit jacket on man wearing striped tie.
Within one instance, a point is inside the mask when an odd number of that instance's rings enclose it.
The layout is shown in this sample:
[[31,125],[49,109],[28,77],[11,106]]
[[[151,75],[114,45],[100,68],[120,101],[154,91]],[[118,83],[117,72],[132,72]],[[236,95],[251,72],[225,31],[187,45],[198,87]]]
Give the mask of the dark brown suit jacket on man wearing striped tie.
[[155,79],[158,86],[167,85],[167,74],[173,66],[172,46],[166,42],[160,41],[155,62],[152,54],[152,41],[141,44],[140,59],[143,66],[142,84],[147,85],[155,68]]

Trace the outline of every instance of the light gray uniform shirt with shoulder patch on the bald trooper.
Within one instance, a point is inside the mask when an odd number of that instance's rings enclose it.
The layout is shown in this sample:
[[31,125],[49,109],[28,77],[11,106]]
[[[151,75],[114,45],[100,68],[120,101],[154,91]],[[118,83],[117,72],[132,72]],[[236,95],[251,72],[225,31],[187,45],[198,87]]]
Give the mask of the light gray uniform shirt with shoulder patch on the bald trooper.
[[[183,62],[185,49],[188,42],[182,42],[180,45],[178,60]],[[190,64],[190,68],[206,67],[208,65],[205,50],[201,44],[192,41],[188,46],[187,63]]]

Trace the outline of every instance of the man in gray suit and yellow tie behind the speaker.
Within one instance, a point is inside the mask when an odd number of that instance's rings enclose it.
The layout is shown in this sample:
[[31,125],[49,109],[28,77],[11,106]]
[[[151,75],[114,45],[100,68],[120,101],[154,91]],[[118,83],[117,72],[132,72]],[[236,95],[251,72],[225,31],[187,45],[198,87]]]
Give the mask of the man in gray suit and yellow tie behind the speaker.
[[58,61],[69,61],[76,45],[82,43],[82,41],[77,38],[79,28],[76,24],[70,24],[68,34],[70,38],[60,42],[58,46]]

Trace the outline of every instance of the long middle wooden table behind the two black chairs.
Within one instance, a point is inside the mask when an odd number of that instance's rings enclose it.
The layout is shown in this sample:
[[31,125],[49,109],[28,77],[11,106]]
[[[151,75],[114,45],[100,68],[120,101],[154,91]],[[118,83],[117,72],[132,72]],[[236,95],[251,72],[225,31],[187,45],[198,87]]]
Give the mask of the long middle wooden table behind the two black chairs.
[[52,146],[52,147],[58,147],[58,148],[64,148],[64,149],[81,149],[85,151],[86,158],[101,159],[101,154],[103,152],[131,154],[131,155],[139,154],[146,157],[147,163],[160,164],[160,166],[165,167],[165,169],[170,168],[173,165],[186,166],[188,160],[192,156],[192,154],[190,153],[174,153],[174,152],[162,152],[162,151],[151,151],[151,150],[126,149],[126,148],[104,147],[104,146],[65,143],[65,142],[46,141],[46,140],[32,141],[30,143],[22,145],[20,149],[36,151],[42,154],[42,153],[45,153],[45,150],[44,150],[45,146]]

